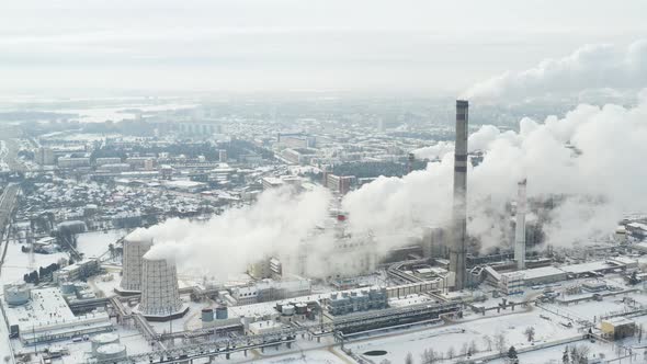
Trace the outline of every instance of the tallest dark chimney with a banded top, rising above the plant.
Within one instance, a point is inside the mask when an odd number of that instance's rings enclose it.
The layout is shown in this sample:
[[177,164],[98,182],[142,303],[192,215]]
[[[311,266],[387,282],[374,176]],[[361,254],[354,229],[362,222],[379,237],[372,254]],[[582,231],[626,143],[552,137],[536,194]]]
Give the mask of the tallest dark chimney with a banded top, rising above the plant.
[[454,289],[465,287],[467,238],[467,117],[469,104],[456,100],[456,144],[454,147],[454,208],[450,271],[455,274]]

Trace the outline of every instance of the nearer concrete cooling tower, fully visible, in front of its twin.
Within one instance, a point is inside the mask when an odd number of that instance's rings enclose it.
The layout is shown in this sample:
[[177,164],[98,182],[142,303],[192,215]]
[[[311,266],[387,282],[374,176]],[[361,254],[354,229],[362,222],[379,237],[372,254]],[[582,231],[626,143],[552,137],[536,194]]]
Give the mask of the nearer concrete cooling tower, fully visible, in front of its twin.
[[180,299],[175,264],[166,259],[144,258],[141,302],[137,310],[151,321],[166,321],[186,314]]

